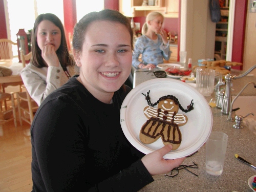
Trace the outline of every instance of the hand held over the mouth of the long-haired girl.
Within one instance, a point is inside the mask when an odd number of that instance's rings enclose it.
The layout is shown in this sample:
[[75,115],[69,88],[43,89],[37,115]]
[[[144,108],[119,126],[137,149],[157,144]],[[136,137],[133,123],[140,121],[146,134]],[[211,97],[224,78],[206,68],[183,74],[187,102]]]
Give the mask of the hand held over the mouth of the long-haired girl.
[[59,66],[59,59],[54,50],[54,47],[47,44],[42,48],[42,58],[46,61],[48,66]]

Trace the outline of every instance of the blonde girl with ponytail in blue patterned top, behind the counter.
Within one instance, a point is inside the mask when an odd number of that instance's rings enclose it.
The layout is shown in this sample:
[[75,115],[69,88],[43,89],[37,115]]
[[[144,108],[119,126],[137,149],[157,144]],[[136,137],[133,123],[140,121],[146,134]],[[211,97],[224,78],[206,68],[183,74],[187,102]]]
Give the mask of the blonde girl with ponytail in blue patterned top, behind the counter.
[[[159,12],[151,12],[142,26],[142,36],[135,43],[133,66],[136,69],[155,68],[163,63],[163,58],[169,60],[170,49],[167,33],[162,29],[164,16]],[[139,60],[140,55],[142,61]]]

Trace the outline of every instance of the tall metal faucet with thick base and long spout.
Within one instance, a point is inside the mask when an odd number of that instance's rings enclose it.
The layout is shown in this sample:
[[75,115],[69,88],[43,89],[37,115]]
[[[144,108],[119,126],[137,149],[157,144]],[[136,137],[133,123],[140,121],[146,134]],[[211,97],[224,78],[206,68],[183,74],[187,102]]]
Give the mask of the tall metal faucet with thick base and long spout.
[[[231,75],[231,74],[227,74],[225,76],[225,80],[226,80],[226,92],[225,95],[223,97],[223,102],[222,102],[222,107],[221,107],[221,112],[223,114],[229,114],[230,111],[232,111],[231,108],[231,102],[232,102],[232,95],[231,95],[231,86],[232,86],[232,80],[233,79],[239,79],[242,78],[244,76],[246,76],[248,73],[250,73],[252,70],[254,70],[256,68],[256,65],[252,66],[248,71],[244,72],[241,75]],[[246,86],[245,86],[246,87]],[[243,91],[243,90],[242,90]],[[238,95],[240,95],[241,93],[239,93]]]

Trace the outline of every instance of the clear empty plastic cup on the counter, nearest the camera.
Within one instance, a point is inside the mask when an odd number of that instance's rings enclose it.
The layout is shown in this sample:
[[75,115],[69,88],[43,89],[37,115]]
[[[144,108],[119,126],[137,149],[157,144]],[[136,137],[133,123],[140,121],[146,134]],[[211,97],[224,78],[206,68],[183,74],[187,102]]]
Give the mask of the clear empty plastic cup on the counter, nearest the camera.
[[205,171],[214,176],[221,175],[227,150],[228,136],[221,132],[211,132],[205,143]]

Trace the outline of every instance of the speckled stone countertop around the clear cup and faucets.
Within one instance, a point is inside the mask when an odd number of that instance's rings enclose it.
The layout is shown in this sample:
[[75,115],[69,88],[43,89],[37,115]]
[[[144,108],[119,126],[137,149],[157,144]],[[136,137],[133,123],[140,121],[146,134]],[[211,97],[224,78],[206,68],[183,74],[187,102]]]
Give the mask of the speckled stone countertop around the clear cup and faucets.
[[[141,73],[141,74],[146,74]],[[142,76],[143,76],[142,75]],[[146,78],[146,77],[145,77]],[[136,79],[135,79],[136,80]],[[137,79],[138,80],[138,79]],[[148,80],[148,79],[147,79]],[[256,77],[245,76],[236,79],[232,84],[232,96],[237,95],[246,83],[256,82]],[[225,88],[225,86],[224,86]],[[241,95],[256,95],[256,89],[249,86]],[[215,96],[215,92],[210,97],[205,97],[209,101]],[[255,105],[255,103],[253,103]],[[248,179],[256,175],[256,170],[249,165],[239,161],[234,157],[238,154],[247,161],[256,165],[256,135],[252,133],[248,127],[243,129],[234,129],[234,121],[228,121],[228,115],[221,113],[221,109],[211,108],[213,116],[212,131],[224,132],[228,135],[228,146],[225,157],[223,173],[220,176],[211,176],[205,172],[205,145],[203,145],[198,153],[191,157],[187,157],[182,164],[190,165],[193,162],[198,163],[198,169],[189,169],[197,176],[189,173],[187,170],[180,170],[179,174],[174,177],[166,177],[164,175],[153,176],[154,182],[143,187],[143,191],[252,191],[248,186]]]

